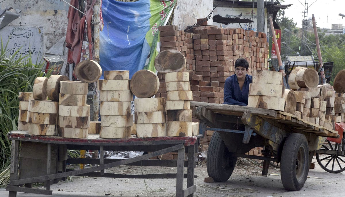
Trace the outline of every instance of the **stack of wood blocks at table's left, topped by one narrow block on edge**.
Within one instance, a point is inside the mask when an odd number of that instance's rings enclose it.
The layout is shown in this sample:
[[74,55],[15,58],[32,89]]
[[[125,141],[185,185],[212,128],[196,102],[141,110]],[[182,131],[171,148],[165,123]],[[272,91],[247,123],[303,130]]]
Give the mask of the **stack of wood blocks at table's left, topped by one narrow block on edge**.
[[59,105],[47,100],[47,77],[36,77],[33,85],[33,100],[28,106],[28,132],[33,135],[57,135]]

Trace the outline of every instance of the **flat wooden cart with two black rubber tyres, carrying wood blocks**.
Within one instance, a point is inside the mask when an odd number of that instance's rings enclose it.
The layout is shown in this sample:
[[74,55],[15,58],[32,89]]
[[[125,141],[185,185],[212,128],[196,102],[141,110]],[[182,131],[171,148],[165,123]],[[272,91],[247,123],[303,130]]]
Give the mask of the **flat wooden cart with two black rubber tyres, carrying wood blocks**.
[[[285,112],[202,102],[191,102],[191,106],[200,121],[199,133],[216,131],[208,147],[207,173],[217,182],[229,179],[237,157],[246,157],[264,160],[262,176],[267,176],[270,161],[280,162],[284,188],[300,190],[315,151],[326,137],[339,138],[334,131]],[[263,157],[245,155],[255,147],[264,148]]]

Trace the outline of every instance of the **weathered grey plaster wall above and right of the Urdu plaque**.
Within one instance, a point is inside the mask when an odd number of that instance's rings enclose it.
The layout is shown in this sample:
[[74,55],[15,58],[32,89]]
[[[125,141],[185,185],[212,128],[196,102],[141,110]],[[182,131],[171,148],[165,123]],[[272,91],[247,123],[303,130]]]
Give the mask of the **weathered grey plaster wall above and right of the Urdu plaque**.
[[21,16],[7,26],[39,28],[45,45],[44,52],[66,35],[68,4],[63,1],[6,0],[1,2],[0,10],[8,7],[20,9]]

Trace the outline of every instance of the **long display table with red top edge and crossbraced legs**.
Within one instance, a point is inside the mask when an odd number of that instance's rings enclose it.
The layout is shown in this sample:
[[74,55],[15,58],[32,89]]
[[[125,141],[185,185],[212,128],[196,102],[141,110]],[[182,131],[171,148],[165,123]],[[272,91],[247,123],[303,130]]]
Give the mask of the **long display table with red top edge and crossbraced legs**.
[[[11,171],[10,183],[6,190],[9,191],[9,197],[15,197],[17,192],[35,193],[51,195],[50,185],[52,180],[64,179],[67,176],[93,176],[93,177],[112,177],[112,178],[176,178],[176,197],[193,196],[196,191],[194,185],[194,154],[198,148],[198,136],[187,137],[152,137],[152,138],[122,138],[122,139],[103,139],[99,135],[89,134],[87,138],[63,138],[59,136],[38,136],[30,135],[26,131],[12,131],[8,133],[8,138],[12,141],[11,152]],[[63,172],[51,174],[51,161],[47,159],[47,174],[30,178],[18,178],[19,150],[20,142],[43,143],[47,144],[47,158],[51,158],[52,145],[66,145],[67,149],[76,150],[105,150],[112,151],[145,151],[149,152],[142,156],[129,159],[105,159],[103,154],[100,158],[69,158],[65,160]],[[148,159],[169,152],[177,152],[177,160],[154,160]],[[187,159],[185,160],[185,153]],[[66,169],[66,162],[69,164],[99,164],[95,167],[71,170]],[[124,175],[104,173],[104,169],[120,165],[139,165],[139,166],[162,166],[177,167],[176,173],[171,174],[145,174],[145,175]],[[187,174],[183,173],[184,167],[187,167]],[[99,172],[97,172],[99,171]],[[187,188],[183,189],[183,179],[187,178]],[[31,188],[32,183],[45,182],[47,189]],[[25,185],[25,187],[21,187]]]

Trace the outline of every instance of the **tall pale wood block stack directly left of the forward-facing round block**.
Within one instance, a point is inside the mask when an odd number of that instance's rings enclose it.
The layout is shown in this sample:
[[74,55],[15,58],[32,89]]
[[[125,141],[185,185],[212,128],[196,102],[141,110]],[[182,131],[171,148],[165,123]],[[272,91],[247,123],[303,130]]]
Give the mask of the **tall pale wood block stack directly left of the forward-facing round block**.
[[101,138],[131,137],[133,94],[129,83],[129,71],[104,71],[104,80],[98,81]]

